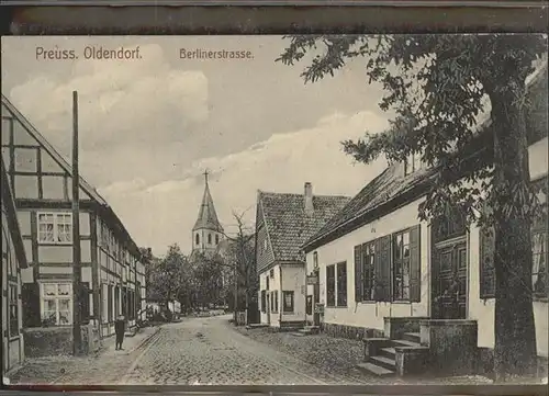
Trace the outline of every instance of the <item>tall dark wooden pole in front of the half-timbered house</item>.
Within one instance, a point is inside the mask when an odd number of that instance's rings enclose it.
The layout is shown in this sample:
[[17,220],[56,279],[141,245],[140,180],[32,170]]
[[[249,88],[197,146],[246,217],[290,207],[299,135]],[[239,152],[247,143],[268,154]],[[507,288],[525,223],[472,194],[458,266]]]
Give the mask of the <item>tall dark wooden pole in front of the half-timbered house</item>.
[[78,92],[72,91],[72,354],[82,353],[80,267],[80,176],[78,172]]

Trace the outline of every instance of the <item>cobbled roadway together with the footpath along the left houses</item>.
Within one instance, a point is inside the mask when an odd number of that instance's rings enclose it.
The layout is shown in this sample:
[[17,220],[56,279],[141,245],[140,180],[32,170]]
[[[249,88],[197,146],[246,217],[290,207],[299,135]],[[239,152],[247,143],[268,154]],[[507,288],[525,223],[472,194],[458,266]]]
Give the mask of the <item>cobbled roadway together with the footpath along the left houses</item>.
[[36,359],[12,384],[322,385],[357,383],[238,332],[231,316],[183,318],[143,347],[99,357]]

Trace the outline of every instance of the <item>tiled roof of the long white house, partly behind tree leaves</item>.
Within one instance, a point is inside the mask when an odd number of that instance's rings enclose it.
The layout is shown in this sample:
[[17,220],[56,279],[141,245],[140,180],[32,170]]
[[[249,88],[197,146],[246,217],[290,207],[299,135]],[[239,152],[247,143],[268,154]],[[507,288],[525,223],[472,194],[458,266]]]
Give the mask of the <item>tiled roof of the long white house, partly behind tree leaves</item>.
[[[547,136],[547,64],[537,70],[528,81],[528,97],[533,100],[527,117],[529,144]],[[539,100],[539,98],[541,98]],[[493,158],[493,129],[490,117],[483,120],[479,133],[458,154],[462,167],[456,177],[464,177],[468,171],[480,169]],[[384,216],[400,205],[423,196],[432,185],[437,169],[428,169],[404,176],[400,163],[393,163],[368,183],[352,200],[303,247],[314,249],[329,240],[339,238],[376,218]]]

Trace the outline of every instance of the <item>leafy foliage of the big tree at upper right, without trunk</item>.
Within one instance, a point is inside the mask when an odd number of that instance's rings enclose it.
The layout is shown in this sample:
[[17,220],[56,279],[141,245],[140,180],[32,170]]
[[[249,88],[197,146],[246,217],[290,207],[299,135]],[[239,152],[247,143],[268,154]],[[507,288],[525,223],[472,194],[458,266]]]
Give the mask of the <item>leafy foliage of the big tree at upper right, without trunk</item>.
[[[357,161],[371,162],[380,156],[403,161],[416,152],[437,169],[435,189],[422,205],[421,217],[442,215],[458,205],[469,220],[479,219],[485,201],[493,201],[494,169],[481,167],[468,174],[463,184],[457,170],[469,167],[469,158],[458,155],[474,146],[478,122],[491,100],[506,94],[526,106],[525,79],[533,63],[547,53],[542,35],[320,35],[287,36],[290,44],[277,59],[285,65],[303,60],[316,52],[304,68],[305,82],[334,76],[348,60],[363,57],[368,82],[381,83],[386,94],[380,109],[396,116],[380,134],[366,133],[356,142],[343,142],[343,149]],[[323,47],[324,52],[320,53]],[[493,114],[494,115],[494,114]],[[492,115],[492,116],[493,116]],[[486,126],[484,124],[483,126]],[[531,216],[535,195],[522,185],[513,189],[516,200],[503,211]],[[520,211],[517,212],[517,208]],[[490,222],[490,218],[481,220]]]

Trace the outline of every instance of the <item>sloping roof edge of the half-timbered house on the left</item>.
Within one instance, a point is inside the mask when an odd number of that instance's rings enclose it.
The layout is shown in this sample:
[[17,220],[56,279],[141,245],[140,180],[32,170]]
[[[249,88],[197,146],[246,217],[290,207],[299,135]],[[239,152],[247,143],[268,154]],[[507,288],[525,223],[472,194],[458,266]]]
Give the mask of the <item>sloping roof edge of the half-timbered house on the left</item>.
[[[25,127],[38,144],[55,159],[55,161],[69,174],[72,174],[72,167],[67,160],[47,142],[47,139],[31,124],[31,122],[10,102],[10,100],[2,93],[2,104],[13,114],[15,118]],[[135,241],[132,239],[130,233],[125,228],[122,220],[114,213],[109,203],[99,194],[99,192],[91,186],[81,176],[79,177],[79,184],[82,190],[91,197],[97,204],[98,212],[101,216],[109,219],[110,225],[114,228],[121,239],[124,240],[127,248],[141,258],[141,251]]]

